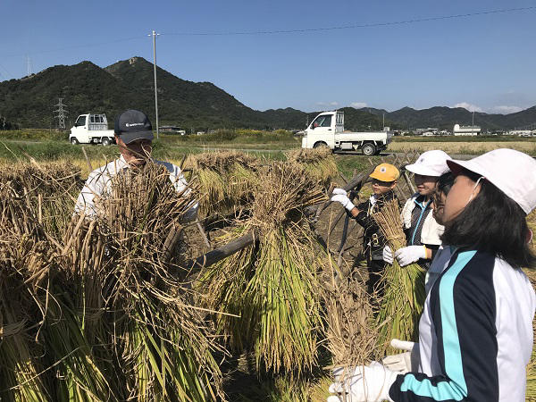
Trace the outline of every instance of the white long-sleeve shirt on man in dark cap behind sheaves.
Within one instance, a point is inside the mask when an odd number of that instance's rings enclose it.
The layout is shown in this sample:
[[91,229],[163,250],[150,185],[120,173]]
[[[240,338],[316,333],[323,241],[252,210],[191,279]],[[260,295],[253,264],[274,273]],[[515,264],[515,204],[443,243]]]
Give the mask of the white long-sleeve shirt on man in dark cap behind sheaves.
[[[170,172],[170,180],[172,181],[173,187],[177,192],[183,191],[188,187],[188,182],[184,179],[184,175],[180,171],[180,167],[169,162],[162,162],[153,160],[154,163],[164,166],[168,172]],[[121,172],[124,169],[129,169],[130,165],[125,161],[121,155],[118,159],[102,166],[95,171],[89,173],[88,180],[84,188],[80,191],[80,195],[74,205],[74,212],[77,214],[86,214],[88,217],[96,216],[96,205],[95,197],[105,197],[106,194],[110,193],[112,186],[112,179],[117,175],[118,172]],[[188,195],[190,190],[187,189],[185,195]],[[187,213],[184,216],[185,222],[191,222],[197,217],[198,204],[195,203],[191,205]]]

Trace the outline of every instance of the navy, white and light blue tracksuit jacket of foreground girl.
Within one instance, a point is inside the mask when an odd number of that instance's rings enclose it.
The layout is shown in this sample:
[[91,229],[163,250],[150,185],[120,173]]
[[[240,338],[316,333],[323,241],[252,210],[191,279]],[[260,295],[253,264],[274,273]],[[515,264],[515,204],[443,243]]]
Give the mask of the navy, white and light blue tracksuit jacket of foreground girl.
[[[534,289],[487,252],[444,247],[419,322],[419,373],[398,375],[394,401],[524,402]],[[439,260],[439,261],[438,261]]]

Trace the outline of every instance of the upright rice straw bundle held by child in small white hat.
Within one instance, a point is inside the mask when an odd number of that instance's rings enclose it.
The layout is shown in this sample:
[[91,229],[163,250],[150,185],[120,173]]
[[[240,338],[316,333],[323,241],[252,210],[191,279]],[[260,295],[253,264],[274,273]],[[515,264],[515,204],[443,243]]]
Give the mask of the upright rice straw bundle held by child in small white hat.
[[[374,221],[387,239],[393,253],[406,246],[406,236],[402,230],[400,210],[396,200],[389,201],[381,211],[373,214]],[[425,272],[419,264],[401,267],[397,259],[386,266],[380,286],[384,289],[380,311],[376,321],[381,324],[378,348],[384,353],[392,353],[391,339],[418,340],[419,318],[423,312]]]

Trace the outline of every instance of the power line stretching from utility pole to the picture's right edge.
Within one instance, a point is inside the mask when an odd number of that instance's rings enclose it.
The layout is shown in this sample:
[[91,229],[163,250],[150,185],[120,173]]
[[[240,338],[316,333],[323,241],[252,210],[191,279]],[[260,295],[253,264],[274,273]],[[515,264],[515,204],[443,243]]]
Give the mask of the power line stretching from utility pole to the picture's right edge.
[[272,35],[272,34],[289,34],[289,33],[306,33],[306,32],[319,32],[327,30],[339,30],[339,29],[359,29],[359,28],[374,28],[374,27],[386,27],[392,25],[406,25],[427,21],[441,21],[452,20],[456,18],[467,18],[479,15],[489,15],[498,13],[515,13],[520,11],[532,11],[536,10],[536,6],[532,7],[519,7],[519,8],[505,8],[500,10],[489,10],[478,13],[464,13],[453,15],[442,15],[439,17],[427,17],[417,18],[404,21],[388,21],[388,22],[373,22],[367,24],[352,24],[342,25],[339,27],[321,27],[321,28],[306,28],[306,29],[278,29],[278,30],[251,30],[251,31],[235,31],[235,32],[177,32],[177,33],[163,33],[162,35],[168,36],[233,36],[233,35]]

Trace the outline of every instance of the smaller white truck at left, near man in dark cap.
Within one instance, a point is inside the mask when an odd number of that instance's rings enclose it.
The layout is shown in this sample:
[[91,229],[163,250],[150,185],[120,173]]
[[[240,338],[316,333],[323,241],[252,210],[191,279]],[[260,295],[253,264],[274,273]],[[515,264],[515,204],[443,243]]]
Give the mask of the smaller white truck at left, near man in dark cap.
[[115,143],[113,130],[108,130],[105,114],[80,114],[71,128],[69,141],[77,144],[102,144],[109,146]]

